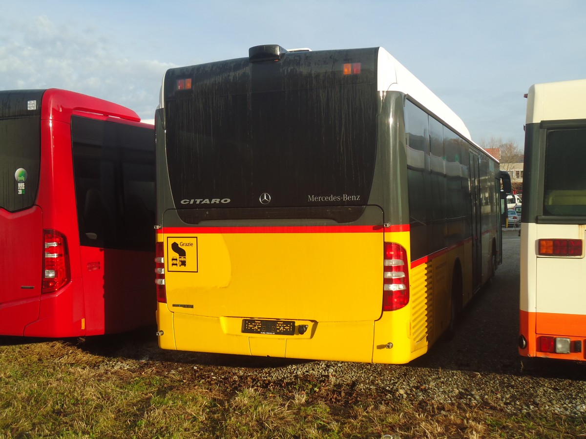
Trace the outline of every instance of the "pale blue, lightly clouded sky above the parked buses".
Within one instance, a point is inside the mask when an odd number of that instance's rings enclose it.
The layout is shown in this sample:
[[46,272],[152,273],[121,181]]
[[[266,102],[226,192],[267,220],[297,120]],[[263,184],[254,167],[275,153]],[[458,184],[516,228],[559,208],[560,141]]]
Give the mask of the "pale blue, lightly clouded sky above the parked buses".
[[168,68],[280,44],[384,47],[476,143],[523,147],[530,85],[586,78],[584,0],[28,0],[0,15],[0,90],[64,88],[154,118]]

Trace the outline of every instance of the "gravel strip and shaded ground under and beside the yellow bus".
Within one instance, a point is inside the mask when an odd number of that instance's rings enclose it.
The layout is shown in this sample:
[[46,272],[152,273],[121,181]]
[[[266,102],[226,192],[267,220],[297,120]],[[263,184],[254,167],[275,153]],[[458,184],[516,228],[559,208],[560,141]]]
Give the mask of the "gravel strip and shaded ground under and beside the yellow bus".
[[505,232],[503,265],[492,286],[466,308],[455,337],[437,342],[408,365],[162,351],[154,342],[136,348],[133,357],[189,382],[217,382],[224,390],[297,382],[300,389],[330,389],[322,397],[341,404],[402,399],[422,407],[464,404],[586,419],[586,362],[527,359],[517,353],[519,243],[516,232]]

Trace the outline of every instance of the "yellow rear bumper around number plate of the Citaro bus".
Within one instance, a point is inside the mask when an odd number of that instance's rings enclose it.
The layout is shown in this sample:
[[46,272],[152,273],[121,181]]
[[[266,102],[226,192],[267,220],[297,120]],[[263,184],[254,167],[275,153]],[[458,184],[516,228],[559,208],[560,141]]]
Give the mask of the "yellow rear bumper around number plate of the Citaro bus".
[[296,330],[294,335],[243,334],[240,317],[172,313],[166,304],[159,304],[156,318],[159,331],[163,332],[159,335],[159,347],[163,349],[330,361],[407,363],[427,351],[426,346],[411,352],[407,320],[400,315],[407,312],[405,309],[384,313],[377,321],[296,321],[296,328],[299,324],[306,324],[308,330],[304,334]]

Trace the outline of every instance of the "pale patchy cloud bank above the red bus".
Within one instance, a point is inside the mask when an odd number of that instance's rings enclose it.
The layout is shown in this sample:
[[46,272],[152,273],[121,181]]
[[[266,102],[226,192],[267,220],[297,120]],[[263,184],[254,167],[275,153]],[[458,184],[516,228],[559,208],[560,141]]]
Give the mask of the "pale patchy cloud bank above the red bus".
[[154,114],[163,74],[175,67],[123,56],[97,29],[57,26],[46,16],[13,20],[0,41],[0,89],[64,88],[126,105],[142,118]]

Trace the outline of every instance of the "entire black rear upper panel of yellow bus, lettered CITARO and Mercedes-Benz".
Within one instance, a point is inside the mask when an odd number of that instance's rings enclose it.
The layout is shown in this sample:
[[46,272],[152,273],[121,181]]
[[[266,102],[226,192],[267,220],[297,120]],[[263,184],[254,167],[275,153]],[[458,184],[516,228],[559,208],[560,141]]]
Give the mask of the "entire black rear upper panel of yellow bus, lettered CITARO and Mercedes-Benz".
[[[376,50],[305,53],[168,73],[176,207],[262,207],[263,194],[271,207],[366,204],[380,104],[375,59]],[[343,64],[357,62],[360,73],[343,76]],[[173,91],[182,76],[193,91]]]

